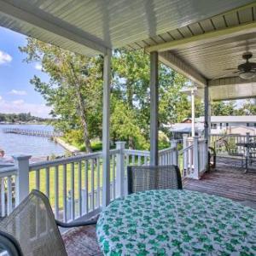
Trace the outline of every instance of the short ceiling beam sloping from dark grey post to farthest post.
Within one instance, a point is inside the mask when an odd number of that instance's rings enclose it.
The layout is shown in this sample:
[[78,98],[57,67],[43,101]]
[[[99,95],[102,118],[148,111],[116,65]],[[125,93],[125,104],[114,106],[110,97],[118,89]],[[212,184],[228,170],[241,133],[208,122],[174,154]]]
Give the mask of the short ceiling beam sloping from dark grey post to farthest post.
[[205,84],[207,84],[207,79],[171,52],[161,52],[159,54],[159,60],[166,66],[172,67],[177,73],[183,74],[186,78],[195,82],[195,84],[198,84],[200,87],[204,87]]

